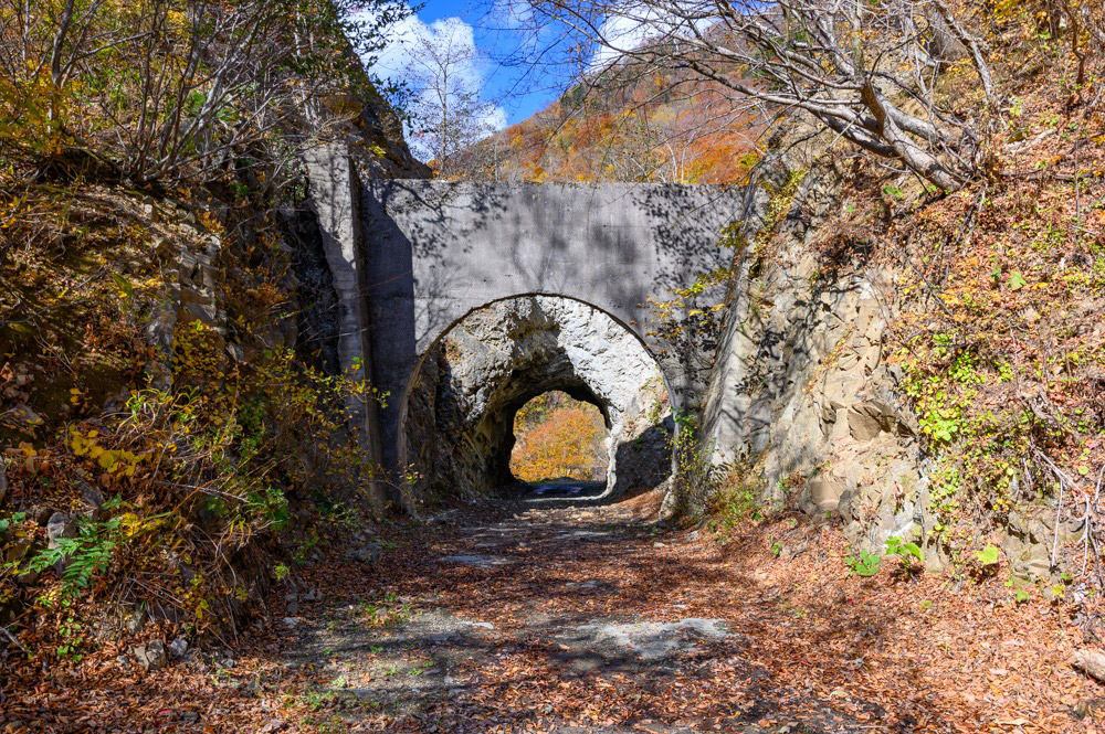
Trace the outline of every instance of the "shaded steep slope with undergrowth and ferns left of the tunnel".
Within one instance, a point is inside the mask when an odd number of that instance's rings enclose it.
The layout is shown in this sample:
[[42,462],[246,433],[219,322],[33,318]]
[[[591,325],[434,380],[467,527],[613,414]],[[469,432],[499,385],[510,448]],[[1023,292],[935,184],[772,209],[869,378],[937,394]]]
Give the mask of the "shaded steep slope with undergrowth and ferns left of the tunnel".
[[[366,178],[425,174],[375,93],[327,106],[316,145],[338,137]],[[339,360],[317,202],[254,155],[171,192],[4,174],[6,655],[233,634],[293,556],[379,511],[340,411],[373,398]]]

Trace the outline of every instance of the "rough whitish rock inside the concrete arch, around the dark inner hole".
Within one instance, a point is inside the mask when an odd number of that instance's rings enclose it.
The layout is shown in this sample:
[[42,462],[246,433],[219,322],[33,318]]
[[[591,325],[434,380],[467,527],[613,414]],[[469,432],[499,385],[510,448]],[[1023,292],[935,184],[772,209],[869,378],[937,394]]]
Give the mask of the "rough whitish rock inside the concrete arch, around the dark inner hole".
[[550,390],[602,411],[608,493],[663,480],[670,461],[661,434],[670,418],[655,361],[598,309],[524,296],[473,311],[423,359],[400,445],[424,477],[423,491],[464,497],[508,486],[514,415]]

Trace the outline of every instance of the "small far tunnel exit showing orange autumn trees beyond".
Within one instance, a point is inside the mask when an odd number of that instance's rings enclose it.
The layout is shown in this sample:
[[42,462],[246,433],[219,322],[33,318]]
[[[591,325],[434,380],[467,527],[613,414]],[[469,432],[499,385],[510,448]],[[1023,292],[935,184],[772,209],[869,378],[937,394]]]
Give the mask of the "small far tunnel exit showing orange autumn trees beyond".
[[514,414],[511,475],[535,494],[601,491],[610,440],[607,416],[593,400],[541,393]]

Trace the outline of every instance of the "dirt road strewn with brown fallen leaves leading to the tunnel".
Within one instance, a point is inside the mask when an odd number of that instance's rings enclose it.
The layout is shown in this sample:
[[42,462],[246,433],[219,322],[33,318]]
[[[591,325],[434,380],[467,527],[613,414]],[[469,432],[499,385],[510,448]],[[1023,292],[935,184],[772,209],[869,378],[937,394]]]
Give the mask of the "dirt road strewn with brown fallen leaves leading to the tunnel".
[[850,576],[807,520],[664,529],[650,501],[398,528],[376,562],[302,568],[223,657],[44,685],[0,731],[1103,731],[1062,608]]

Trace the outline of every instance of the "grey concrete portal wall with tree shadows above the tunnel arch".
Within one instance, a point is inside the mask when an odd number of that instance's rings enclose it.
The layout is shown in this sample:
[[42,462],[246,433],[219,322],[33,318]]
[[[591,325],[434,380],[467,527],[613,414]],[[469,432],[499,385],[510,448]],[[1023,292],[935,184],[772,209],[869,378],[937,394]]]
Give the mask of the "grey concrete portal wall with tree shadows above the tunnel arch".
[[[465,313],[557,294],[643,337],[646,301],[729,265],[723,230],[754,231],[766,210],[755,188],[364,180],[341,145],[306,162],[337,294],[338,361],[390,395],[379,411],[350,408],[370,456],[391,469],[420,355]],[[702,370],[671,361],[663,373],[677,405],[705,391]]]

